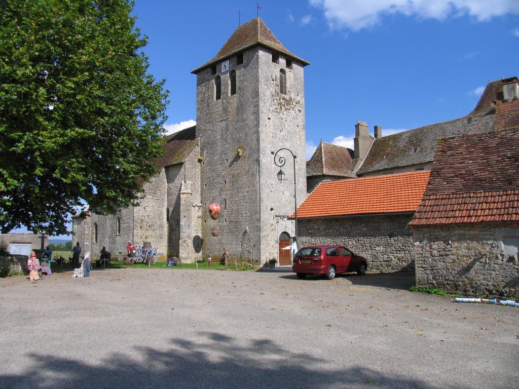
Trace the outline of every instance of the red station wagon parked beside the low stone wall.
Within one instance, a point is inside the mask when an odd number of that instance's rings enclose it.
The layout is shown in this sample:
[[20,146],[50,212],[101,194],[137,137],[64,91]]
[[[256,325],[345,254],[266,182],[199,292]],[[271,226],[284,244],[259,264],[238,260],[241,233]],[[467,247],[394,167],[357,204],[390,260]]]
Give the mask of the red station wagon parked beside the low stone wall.
[[367,261],[355,255],[345,246],[309,246],[301,248],[294,256],[292,271],[297,278],[304,279],[307,274],[324,274],[333,280],[335,274],[357,272],[365,274]]

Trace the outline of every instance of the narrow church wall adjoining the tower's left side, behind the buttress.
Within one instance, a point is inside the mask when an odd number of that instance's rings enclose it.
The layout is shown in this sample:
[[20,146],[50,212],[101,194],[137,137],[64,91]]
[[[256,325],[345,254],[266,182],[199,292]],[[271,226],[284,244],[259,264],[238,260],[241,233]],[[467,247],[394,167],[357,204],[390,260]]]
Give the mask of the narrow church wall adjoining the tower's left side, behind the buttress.
[[[180,190],[182,182],[189,186],[192,207],[196,207],[200,213],[200,145],[198,144],[182,164],[166,167],[166,180],[168,185],[167,212],[168,214],[168,258],[179,257],[180,241]],[[199,218],[198,216],[196,217]],[[200,235],[200,221],[197,226],[192,226],[192,237]],[[201,238],[200,238],[201,239]]]

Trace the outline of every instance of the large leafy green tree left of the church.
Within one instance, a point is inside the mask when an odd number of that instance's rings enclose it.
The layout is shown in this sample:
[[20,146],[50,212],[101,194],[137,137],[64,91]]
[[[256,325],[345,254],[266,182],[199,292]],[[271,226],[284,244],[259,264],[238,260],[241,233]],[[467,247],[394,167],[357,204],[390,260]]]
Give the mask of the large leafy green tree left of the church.
[[164,80],[127,0],[0,0],[0,229],[66,232],[156,173]]

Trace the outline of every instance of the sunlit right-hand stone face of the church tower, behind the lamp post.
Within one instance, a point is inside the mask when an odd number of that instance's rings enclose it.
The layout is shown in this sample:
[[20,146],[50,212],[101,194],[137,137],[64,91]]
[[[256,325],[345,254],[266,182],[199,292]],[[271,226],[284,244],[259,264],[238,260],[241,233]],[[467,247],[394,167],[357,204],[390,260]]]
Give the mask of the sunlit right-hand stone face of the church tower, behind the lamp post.
[[[290,216],[294,212],[294,159],[297,205],[306,198],[305,150],[305,90],[303,65],[293,62],[286,66],[284,55],[272,61],[272,51],[258,49],[260,61],[260,215],[261,262],[278,257],[276,215]],[[285,75],[286,94],[280,92],[280,72]],[[274,154],[285,159],[282,170],[285,180],[280,182],[280,167]]]

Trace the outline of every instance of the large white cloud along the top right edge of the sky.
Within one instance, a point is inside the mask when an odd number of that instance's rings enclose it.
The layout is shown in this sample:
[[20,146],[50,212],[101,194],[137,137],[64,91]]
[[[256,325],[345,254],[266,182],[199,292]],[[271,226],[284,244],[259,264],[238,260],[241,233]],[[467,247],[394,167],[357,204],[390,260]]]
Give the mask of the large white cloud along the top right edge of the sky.
[[417,19],[445,20],[469,15],[488,21],[507,13],[519,14],[517,0],[309,0],[321,8],[332,29],[359,31],[380,23],[386,15],[401,13]]

